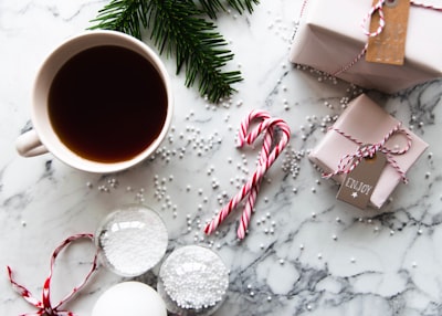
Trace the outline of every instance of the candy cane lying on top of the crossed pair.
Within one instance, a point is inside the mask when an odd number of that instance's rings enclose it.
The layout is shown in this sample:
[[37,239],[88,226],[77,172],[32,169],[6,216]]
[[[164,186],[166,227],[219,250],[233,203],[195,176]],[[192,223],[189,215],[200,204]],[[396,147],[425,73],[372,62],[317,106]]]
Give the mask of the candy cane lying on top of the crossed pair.
[[[282,120],[281,118],[270,118],[264,120],[259,128],[263,126],[267,126],[267,128],[274,124],[278,125],[278,128],[282,131],[280,143],[272,149],[269,154],[267,159],[264,164],[259,165],[252,178],[241,188],[241,190],[229,201],[229,203],[221,209],[218,215],[206,227],[204,232],[207,234],[211,234],[221,222],[234,210],[238,204],[248,196],[251,190],[262,180],[262,177],[266,172],[266,170],[273,165],[276,160],[277,156],[288,144],[291,130],[288,125]],[[255,134],[256,135],[256,134]],[[252,137],[253,138],[253,137]]]

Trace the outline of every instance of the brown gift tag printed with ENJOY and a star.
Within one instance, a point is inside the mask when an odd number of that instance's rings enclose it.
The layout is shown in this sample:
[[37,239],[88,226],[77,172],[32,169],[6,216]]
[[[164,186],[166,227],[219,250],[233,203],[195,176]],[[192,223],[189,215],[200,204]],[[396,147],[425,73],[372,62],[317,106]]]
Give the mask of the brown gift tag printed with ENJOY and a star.
[[362,158],[358,166],[347,173],[336,198],[359,209],[367,208],[386,161],[383,152],[377,152],[372,158]]

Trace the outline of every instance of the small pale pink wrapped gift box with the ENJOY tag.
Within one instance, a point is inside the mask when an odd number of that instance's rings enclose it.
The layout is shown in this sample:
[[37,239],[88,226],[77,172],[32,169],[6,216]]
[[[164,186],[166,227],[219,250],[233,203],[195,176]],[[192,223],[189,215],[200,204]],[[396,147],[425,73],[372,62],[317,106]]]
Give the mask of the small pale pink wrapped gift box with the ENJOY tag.
[[[400,129],[398,133],[391,133],[396,126],[400,126]],[[401,126],[399,120],[367,95],[362,94],[348,104],[325,137],[309,152],[308,158],[325,173],[334,173],[343,158],[357,152],[360,144],[373,145],[383,140],[386,140],[383,148],[392,148],[394,151],[409,148],[403,154],[391,155],[393,161],[387,162],[381,170],[369,199],[369,204],[379,209],[402,180],[402,176],[427,149],[428,144]],[[382,147],[379,148],[381,149]],[[339,183],[343,183],[344,178],[345,172],[333,176]]]

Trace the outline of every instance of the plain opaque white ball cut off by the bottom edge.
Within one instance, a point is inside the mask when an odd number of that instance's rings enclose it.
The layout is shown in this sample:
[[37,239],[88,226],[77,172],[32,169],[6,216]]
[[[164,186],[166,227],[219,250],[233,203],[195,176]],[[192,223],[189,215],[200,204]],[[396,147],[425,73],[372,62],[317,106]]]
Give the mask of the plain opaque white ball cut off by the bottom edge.
[[167,316],[159,294],[140,282],[123,282],[112,286],[95,303],[92,316]]

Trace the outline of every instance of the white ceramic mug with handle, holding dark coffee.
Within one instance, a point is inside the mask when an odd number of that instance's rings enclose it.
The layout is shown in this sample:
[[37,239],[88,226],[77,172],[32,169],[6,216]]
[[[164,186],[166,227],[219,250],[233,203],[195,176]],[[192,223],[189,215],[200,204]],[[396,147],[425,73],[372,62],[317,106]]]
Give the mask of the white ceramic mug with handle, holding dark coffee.
[[[104,45],[122,46],[146,59],[157,70],[167,95],[167,102],[165,103],[167,115],[156,139],[135,157],[116,162],[94,161],[75,154],[60,139],[51,124],[49,115],[50,88],[59,70],[76,54],[91,48]],[[151,49],[141,41],[120,32],[86,31],[64,41],[49,54],[41,65],[32,94],[31,118],[33,129],[18,137],[15,144],[17,150],[23,157],[33,157],[49,151],[61,161],[80,170],[98,173],[116,172],[140,162],[158,148],[169,129],[172,110],[173,99],[169,76],[161,60]]]

